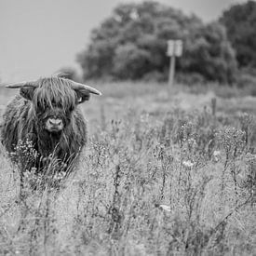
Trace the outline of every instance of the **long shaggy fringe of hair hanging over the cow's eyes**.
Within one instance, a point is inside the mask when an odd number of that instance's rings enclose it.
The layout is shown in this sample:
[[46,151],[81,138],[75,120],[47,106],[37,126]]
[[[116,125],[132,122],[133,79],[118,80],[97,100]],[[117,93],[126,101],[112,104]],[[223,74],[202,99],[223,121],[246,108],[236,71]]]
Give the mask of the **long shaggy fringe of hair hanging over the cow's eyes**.
[[72,82],[59,77],[41,78],[34,90],[35,107],[56,107],[69,110],[75,107],[77,97]]

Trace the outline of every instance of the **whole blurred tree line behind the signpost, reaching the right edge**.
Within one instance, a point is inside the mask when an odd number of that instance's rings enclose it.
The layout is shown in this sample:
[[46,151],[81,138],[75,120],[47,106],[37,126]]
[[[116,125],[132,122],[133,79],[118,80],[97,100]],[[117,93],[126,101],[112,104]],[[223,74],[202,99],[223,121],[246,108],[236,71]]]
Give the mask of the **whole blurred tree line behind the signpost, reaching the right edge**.
[[219,20],[207,24],[157,2],[121,4],[92,30],[77,61],[84,79],[165,81],[167,41],[182,39],[178,79],[234,84],[241,73],[255,74],[255,27],[254,1],[230,7]]

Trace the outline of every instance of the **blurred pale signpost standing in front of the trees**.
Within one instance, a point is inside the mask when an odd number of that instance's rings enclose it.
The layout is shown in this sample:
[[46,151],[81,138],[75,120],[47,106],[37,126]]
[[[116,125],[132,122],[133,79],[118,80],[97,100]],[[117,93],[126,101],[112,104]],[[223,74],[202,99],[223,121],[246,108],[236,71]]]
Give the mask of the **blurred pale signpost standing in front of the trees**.
[[174,73],[175,73],[175,58],[182,56],[183,42],[182,40],[168,40],[168,52],[170,57],[169,61],[169,74],[168,74],[168,87],[173,87]]

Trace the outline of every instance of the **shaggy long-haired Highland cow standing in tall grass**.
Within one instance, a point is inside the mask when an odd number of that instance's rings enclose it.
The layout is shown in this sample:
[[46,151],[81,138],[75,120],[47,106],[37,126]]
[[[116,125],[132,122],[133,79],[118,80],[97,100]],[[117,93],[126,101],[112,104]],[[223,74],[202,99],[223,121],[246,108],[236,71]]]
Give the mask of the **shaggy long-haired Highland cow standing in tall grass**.
[[15,155],[22,141],[32,141],[37,154],[30,168],[40,169],[45,164],[42,159],[52,155],[64,167],[73,166],[87,143],[86,121],[77,105],[88,101],[90,93],[101,92],[61,76],[7,88],[20,88],[3,117],[2,142],[7,152]]

